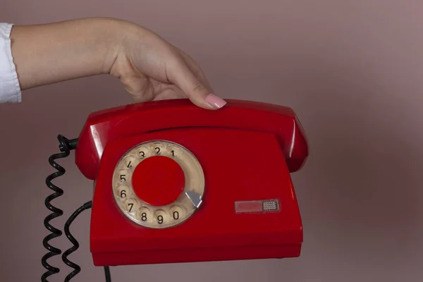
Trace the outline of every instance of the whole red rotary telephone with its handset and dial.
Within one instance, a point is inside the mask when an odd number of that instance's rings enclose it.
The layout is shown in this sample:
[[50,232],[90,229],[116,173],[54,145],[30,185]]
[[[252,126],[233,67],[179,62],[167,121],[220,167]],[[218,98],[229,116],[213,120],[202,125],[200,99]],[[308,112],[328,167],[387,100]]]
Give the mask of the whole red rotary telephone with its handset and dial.
[[290,173],[309,153],[302,126],[286,106],[226,101],[216,111],[188,99],[119,106],[62,138],[94,180],[94,265],[300,255]]

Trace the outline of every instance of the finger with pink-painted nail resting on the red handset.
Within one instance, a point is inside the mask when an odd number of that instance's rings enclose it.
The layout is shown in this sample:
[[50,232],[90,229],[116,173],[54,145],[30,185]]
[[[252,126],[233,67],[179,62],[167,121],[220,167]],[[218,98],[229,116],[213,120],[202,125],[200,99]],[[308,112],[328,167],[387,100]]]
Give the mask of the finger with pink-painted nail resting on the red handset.
[[179,63],[177,69],[169,72],[168,80],[182,90],[193,104],[201,108],[220,109],[226,104],[225,100],[213,94],[185,63]]

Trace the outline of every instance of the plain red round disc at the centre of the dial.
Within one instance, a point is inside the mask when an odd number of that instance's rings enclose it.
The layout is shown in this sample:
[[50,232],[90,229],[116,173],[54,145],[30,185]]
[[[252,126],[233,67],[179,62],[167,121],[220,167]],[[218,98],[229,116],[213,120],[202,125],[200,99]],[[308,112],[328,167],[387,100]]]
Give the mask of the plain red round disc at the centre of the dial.
[[141,161],[132,177],[135,194],[154,206],[171,204],[183,191],[185,175],[176,161],[154,156]]

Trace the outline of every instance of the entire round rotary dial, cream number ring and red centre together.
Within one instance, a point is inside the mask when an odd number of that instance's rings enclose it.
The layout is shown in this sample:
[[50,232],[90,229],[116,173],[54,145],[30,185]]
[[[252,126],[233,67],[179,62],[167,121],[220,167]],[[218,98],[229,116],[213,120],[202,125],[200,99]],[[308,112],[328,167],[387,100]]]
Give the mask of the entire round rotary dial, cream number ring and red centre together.
[[202,203],[204,173],[194,155],[165,140],[143,142],[118,161],[113,194],[121,212],[149,228],[186,221]]

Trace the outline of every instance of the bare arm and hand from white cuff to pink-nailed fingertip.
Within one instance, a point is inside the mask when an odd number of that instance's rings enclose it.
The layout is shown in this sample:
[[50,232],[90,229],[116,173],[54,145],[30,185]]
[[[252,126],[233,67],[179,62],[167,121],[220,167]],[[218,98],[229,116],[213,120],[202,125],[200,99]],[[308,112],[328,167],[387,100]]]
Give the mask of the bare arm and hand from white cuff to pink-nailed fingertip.
[[135,102],[188,97],[204,109],[226,104],[197,63],[154,32],[124,20],[85,18],[16,25],[12,55],[22,90],[109,74]]

